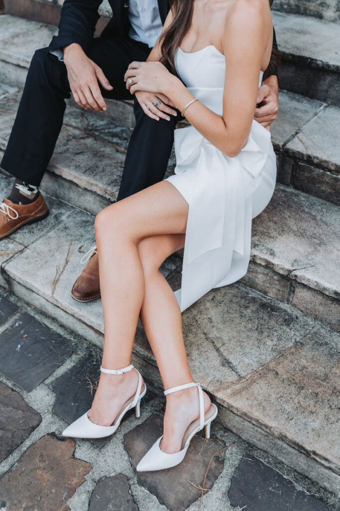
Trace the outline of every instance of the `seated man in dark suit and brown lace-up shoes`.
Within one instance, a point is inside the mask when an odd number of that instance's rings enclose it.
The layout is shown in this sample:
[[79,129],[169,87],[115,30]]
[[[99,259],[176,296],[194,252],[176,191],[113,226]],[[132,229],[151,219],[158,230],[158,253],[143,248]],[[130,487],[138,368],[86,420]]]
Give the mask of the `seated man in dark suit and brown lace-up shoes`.
[[[0,203],[0,239],[48,214],[39,185],[63,124],[65,99],[72,93],[80,106],[98,111],[107,109],[104,98],[131,99],[124,82],[126,69],[134,60],[147,59],[169,10],[168,0],[109,0],[113,17],[100,37],[93,38],[101,2],[65,0],[58,35],[32,58],[0,164],[16,178],[11,194]],[[264,106],[255,112],[255,119],[266,127],[278,109],[275,75],[260,88],[258,102]],[[179,117],[164,96],[143,91],[135,96],[136,127],[118,200],[163,179]],[[72,296],[89,301],[99,294],[94,255],[73,286]]]

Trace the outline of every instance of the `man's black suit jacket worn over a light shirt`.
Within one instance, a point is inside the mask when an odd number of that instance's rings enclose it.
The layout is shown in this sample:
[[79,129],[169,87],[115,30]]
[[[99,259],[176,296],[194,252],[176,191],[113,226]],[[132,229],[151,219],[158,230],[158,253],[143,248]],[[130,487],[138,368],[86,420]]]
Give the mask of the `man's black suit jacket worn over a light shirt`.
[[[98,8],[102,0],[65,0],[61,9],[59,33],[49,44],[49,50],[62,48],[67,44],[76,42],[87,51],[92,41],[94,29],[99,18]],[[100,37],[124,37],[129,29],[128,7],[129,0],[109,0],[113,17],[104,28]],[[164,24],[169,11],[168,0],[158,0],[161,20]],[[275,30],[273,46],[277,49]],[[274,74],[277,75],[275,70]]]

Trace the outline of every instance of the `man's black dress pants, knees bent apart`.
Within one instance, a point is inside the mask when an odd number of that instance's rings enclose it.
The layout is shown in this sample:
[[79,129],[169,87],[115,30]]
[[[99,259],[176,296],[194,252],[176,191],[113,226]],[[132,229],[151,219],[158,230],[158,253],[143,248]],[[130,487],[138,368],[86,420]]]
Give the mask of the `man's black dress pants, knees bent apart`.
[[[124,74],[133,60],[146,60],[150,49],[130,38],[94,38],[87,55],[108,78],[113,90],[100,85],[104,98],[131,99]],[[66,66],[47,48],[32,58],[12,132],[0,166],[30,184],[39,186],[53,154],[70,86]],[[161,181],[167,169],[176,119],[155,121],[135,100],[136,127],[128,146],[118,199]],[[102,114],[104,115],[104,113]]]

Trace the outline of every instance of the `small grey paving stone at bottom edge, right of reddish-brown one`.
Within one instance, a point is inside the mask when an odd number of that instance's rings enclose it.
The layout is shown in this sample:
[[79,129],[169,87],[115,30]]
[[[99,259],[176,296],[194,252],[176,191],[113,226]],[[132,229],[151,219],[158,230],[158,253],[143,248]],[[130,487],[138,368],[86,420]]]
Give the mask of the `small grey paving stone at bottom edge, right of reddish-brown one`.
[[126,477],[117,474],[99,481],[91,495],[89,511],[138,511]]

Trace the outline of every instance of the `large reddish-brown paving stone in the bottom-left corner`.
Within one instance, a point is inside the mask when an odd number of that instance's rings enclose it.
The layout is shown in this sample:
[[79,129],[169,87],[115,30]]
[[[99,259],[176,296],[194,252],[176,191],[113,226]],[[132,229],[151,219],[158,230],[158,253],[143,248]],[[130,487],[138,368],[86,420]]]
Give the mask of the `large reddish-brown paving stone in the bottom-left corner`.
[[90,463],[74,458],[74,440],[45,435],[0,479],[2,507],[69,511],[67,500],[85,481]]

